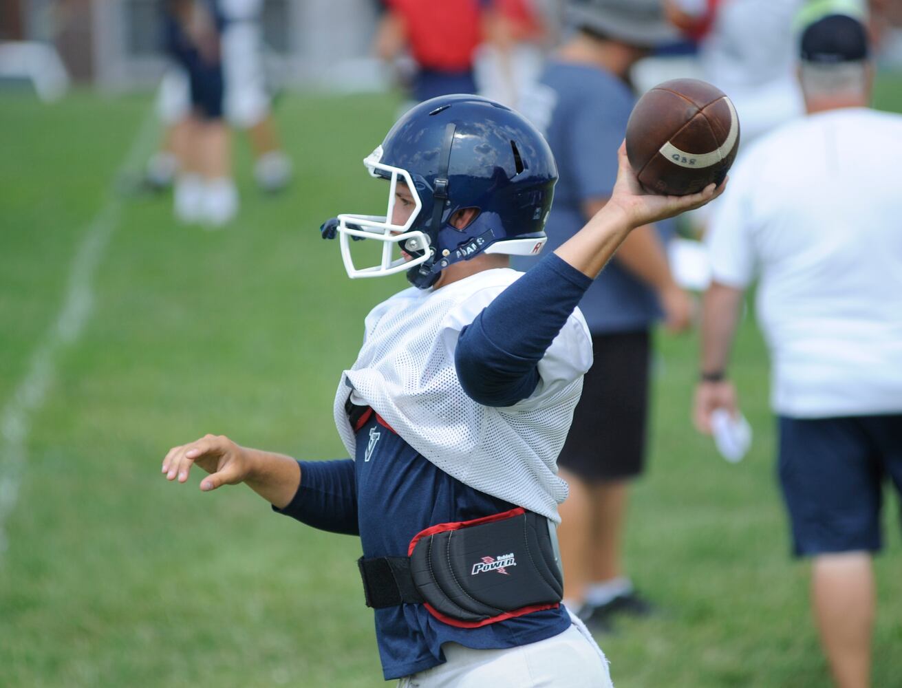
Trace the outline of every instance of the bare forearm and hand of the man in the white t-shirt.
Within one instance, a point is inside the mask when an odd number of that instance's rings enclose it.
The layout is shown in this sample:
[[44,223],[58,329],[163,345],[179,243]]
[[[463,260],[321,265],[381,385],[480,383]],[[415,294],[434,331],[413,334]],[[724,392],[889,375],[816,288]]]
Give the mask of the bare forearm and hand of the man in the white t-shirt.
[[716,408],[737,413],[736,390],[725,379],[736,324],[742,304],[742,289],[713,281],[704,292],[702,306],[702,380],[695,388],[695,427],[711,433],[711,414]]

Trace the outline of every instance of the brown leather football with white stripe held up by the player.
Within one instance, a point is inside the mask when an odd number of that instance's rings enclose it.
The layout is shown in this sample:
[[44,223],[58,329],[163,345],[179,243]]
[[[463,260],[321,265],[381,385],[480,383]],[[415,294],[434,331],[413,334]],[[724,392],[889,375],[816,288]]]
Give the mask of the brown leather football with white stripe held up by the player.
[[626,125],[626,153],[642,186],[685,196],[720,184],[739,150],[739,117],[730,98],[696,78],[649,90]]

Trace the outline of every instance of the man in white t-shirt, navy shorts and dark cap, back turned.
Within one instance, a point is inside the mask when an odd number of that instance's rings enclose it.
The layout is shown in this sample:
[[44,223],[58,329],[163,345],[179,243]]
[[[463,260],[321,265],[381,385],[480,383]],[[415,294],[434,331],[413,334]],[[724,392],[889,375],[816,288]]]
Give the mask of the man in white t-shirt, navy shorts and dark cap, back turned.
[[861,18],[809,21],[799,67],[808,115],[747,151],[713,213],[695,424],[710,433],[714,409],[737,413],[725,369],[757,277],[795,553],[813,557],[836,682],[866,686],[882,482],[902,492],[902,116],[866,106]]

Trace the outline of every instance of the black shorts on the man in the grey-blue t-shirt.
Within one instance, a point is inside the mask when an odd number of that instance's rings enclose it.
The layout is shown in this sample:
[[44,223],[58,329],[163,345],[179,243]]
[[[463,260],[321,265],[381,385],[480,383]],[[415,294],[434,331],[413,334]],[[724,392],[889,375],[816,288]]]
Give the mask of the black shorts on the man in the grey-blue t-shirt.
[[592,336],[594,363],[557,464],[586,482],[629,480],[645,467],[648,330]]

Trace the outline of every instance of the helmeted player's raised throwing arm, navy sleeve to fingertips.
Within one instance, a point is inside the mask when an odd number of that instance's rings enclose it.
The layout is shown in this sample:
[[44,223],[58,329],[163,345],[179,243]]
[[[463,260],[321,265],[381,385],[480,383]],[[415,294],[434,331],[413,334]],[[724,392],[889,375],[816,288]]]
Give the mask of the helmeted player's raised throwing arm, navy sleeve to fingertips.
[[504,289],[461,331],[455,363],[465,392],[485,406],[512,406],[538,385],[538,362],[630,230],[675,216],[723,192],[713,184],[692,196],[641,190],[626,150],[611,200],[556,252]]

